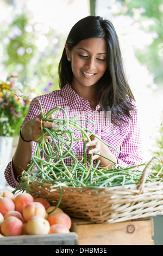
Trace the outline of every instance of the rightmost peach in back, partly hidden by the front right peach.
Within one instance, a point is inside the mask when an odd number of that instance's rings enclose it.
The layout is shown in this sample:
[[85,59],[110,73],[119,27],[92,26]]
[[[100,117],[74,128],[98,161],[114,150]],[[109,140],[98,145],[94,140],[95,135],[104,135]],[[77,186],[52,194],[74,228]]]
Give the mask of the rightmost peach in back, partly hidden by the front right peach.
[[51,226],[60,224],[65,226],[68,230],[71,228],[71,218],[64,212],[53,213],[47,220]]

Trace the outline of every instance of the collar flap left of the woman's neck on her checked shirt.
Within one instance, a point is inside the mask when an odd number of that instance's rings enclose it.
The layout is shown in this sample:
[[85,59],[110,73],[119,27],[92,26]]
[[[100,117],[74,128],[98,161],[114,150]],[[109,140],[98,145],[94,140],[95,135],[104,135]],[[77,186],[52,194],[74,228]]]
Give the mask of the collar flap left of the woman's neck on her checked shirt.
[[[63,88],[61,88],[61,94],[62,97],[64,97],[64,99],[66,100],[68,106],[71,106],[72,109],[76,108],[76,106],[78,106],[81,102],[84,109],[90,108],[90,103],[86,99],[80,97],[68,83]],[[100,108],[101,105],[98,104],[95,110],[97,111]]]

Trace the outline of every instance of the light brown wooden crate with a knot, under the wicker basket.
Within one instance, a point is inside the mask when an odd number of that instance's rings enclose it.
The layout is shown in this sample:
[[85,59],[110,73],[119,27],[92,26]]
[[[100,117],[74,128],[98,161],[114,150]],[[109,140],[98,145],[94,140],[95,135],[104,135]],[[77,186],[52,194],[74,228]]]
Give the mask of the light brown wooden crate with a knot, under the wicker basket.
[[153,219],[95,224],[72,218],[71,231],[78,235],[78,245],[154,245]]

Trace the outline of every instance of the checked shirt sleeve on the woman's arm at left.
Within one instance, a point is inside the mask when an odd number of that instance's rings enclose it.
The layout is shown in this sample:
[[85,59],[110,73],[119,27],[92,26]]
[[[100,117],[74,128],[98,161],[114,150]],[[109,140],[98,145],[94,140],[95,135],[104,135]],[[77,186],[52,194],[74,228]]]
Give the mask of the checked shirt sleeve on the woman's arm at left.
[[[30,103],[29,110],[27,112],[26,117],[24,118],[24,121],[23,121],[20,129],[22,128],[22,126],[25,122],[27,122],[27,121],[33,119],[35,116],[39,115],[40,112],[41,111],[40,111],[39,100],[37,98],[34,98],[32,100],[32,102]],[[32,154],[34,154],[35,145],[36,145],[36,142],[33,142]],[[4,171],[4,177],[5,177],[5,180],[7,181],[7,183],[9,184],[9,186],[11,186],[12,188],[16,188],[18,186],[18,181],[16,180],[16,177],[14,175],[12,160],[11,160],[11,162],[9,162],[9,164],[7,165],[7,167]]]

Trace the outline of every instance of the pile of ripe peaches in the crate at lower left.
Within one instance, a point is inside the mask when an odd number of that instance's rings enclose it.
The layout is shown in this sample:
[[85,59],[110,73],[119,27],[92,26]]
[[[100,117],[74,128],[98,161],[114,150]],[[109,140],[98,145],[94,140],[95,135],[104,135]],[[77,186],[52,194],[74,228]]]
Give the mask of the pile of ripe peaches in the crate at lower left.
[[60,208],[53,211],[43,198],[29,193],[14,196],[0,191],[0,239],[2,236],[70,233],[71,218]]

